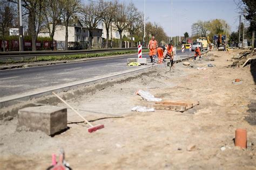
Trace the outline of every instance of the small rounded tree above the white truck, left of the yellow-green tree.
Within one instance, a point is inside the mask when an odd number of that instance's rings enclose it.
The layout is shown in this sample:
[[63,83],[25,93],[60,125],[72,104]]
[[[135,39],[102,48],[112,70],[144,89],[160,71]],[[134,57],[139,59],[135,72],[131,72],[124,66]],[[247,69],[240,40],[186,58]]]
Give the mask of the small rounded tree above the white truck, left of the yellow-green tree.
[[198,22],[192,24],[191,29],[193,36],[206,37],[209,31],[209,22],[198,20]]

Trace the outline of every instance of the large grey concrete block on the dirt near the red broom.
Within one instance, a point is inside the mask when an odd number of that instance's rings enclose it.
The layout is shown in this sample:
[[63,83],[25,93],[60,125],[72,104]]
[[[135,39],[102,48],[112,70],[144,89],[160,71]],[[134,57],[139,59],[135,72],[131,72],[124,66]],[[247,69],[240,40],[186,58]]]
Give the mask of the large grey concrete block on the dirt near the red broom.
[[20,109],[17,129],[23,126],[29,131],[41,130],[48,135],[55,134],[67,128],[67,110],[52,105]]

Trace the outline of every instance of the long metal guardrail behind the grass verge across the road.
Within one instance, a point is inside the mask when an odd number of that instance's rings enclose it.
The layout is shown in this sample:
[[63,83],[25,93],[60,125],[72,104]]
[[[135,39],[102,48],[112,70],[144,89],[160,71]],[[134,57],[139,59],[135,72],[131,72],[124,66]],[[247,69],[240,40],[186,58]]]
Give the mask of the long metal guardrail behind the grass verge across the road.
[[[138,48],[108,48],[108,49],[86,49],[86,50],[69,50],[69,51],[23,51],[23,52],[0,52],[0,58],[20,58],[24,56],[49,56],[49,55],[73,55],[89,54],[100,52],[118,52],[133,51]],[[146,49],[144,47],[143,49]]]

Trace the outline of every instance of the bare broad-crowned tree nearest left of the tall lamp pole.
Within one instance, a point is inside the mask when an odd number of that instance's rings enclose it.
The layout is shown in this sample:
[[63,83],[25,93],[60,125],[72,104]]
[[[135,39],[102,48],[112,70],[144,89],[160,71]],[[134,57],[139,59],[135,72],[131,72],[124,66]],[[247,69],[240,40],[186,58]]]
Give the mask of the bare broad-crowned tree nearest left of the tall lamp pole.
[[129,5],[125,3],[117,4],[117,9],[114,15],[114,26],[119,32],[119,47],[122,48],[123,44],[123,31],[127,30],[128,27],[138,18],[138,10],[133,3]]

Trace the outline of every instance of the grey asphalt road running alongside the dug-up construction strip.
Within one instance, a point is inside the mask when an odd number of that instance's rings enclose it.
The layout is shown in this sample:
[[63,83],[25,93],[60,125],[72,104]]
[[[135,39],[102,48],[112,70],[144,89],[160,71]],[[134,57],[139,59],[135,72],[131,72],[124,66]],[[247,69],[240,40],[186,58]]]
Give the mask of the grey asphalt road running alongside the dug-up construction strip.
[[[181,53],[179,50],[177,55],[178,58],[186,58],[193,55],[193,52],[186,49],[185,53]],[[0,97],[136,69],[137,67],[126,66],[127,58],[136,57],[137,55],[130,55],[62,65],[0,70]],[[150,61],[149,55],[146,55],[146,58],[147,61]]]

